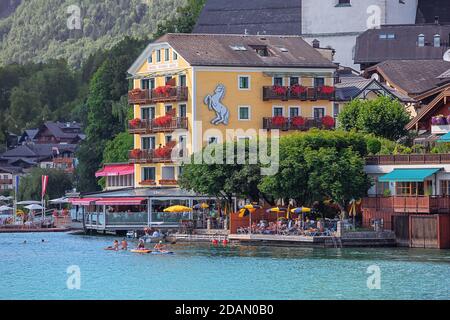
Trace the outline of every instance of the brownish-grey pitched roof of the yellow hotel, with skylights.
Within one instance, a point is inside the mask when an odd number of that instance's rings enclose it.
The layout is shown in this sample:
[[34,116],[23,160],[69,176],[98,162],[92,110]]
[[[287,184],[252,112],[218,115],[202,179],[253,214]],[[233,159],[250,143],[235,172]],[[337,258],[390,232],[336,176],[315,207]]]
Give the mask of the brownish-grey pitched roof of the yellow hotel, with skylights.
[[[169,43],[193,66],[337,67],[299,36],[178,33],[166,34],[156,42]],[[236,51],[232,46],[243,46],[245,50]],[[269,56],[260,56],[255,47],[266,47]],[[147,54],[144,52],[138,61]]]

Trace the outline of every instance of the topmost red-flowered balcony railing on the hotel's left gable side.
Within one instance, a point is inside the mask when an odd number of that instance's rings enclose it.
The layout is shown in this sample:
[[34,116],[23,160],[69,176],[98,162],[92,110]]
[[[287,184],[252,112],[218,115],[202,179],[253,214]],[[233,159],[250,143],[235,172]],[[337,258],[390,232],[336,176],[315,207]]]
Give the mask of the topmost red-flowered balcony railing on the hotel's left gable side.
[[133,89],[128,92],[130,104],[151,104],[157,102],[176,102],[188,100],[187,87],[171,87],[161,93],[156,89]]

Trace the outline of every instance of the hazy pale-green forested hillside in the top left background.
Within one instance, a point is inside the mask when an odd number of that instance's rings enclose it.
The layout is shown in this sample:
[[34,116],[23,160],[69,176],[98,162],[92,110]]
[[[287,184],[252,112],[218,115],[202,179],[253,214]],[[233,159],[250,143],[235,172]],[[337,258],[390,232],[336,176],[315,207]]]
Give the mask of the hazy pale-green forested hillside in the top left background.
[[[18,1],[1,2],[6,15]],[[14,13],[0,19],[0,65],[65,59],[70,66],[79,67],[91,54],[112,48],[124,36],[151,38],[158,24],[174,17],[176,9],[186,3],[187,0],[22,1]],[[77,12],[69,10],[74,4],[80,8],[79,29],[75,23]],[[75,29],[68,27],[68,20]]]

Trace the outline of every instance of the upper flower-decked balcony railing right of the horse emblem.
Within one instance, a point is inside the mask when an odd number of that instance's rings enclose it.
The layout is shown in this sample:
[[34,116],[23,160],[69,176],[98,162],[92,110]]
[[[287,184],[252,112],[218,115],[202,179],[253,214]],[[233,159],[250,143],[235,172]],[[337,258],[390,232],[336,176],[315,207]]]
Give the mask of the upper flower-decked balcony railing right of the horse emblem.
[[263,100],[304,100],[304,101],[316,101],[316,100],[330,100],[333,101],[336,98],[335,91],[324,92],[322,87],[304,87],[304,91],[297,93],[292,90],[292,87],[280,87],[280,92],[274,90],[273,86],[263,87]]

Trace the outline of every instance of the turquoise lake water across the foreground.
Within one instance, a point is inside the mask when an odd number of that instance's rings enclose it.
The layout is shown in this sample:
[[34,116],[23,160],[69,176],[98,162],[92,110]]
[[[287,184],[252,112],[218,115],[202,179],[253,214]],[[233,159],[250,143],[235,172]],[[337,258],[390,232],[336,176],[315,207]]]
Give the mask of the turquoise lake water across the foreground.
[[[103,250],[113,239],[0,234],[0,299],[450,299],[450,250],[177,244],[158,256]],[[381,289],[367,287],[371,265]]]

